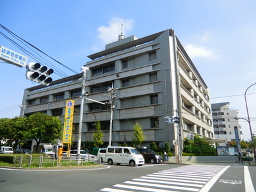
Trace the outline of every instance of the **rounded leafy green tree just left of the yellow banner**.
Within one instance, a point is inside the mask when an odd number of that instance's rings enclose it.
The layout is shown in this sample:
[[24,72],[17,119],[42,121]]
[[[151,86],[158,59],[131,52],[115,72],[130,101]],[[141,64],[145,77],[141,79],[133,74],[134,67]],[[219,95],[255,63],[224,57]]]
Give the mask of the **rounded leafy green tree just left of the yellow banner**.
[[35,113],[28,117],[29,138],[36,141],[36,152],[40,143],[54,143],[61,138],[61,121],[58,117]]

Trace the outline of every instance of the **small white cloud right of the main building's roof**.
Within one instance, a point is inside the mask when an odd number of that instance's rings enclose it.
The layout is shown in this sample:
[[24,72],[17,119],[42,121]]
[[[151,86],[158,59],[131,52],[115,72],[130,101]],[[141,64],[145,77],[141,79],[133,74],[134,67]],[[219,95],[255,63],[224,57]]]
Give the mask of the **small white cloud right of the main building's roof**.
[[197,47],[196,45],[193,45],[193,44],[188,44],[188,45],[185,45],[184,47],[188,52],[188,55],[190,58],[195,58],[195,57],[209,58],[213,56],[213,52],[207,50],[206,47]]

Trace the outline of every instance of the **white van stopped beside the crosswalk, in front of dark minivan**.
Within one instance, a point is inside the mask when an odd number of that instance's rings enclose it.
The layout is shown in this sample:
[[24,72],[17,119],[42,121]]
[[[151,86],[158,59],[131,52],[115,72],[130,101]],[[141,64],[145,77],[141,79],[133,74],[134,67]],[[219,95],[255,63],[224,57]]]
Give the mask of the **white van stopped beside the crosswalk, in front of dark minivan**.
[[106,161],[108,164],[130,164],[130,166],[144,164],[143,156],[133,147],[108,147]]

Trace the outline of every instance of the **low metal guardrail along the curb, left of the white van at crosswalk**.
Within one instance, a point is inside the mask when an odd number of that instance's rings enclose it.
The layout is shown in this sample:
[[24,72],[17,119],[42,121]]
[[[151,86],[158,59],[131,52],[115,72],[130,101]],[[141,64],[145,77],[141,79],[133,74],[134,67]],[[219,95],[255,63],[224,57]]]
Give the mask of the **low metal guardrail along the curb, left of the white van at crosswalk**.
[[14,156],[13,158],[13,166],[36,166],[36,167],[42,167],[45,164],[51,164],[50,166],[60,166],[65,164],[79,164],[81,166],[84,165],[84,163],[88,162],[94,162],[100,164],[100,158],[98,156],[95,156],[95,158],[91,157],[45,157],[45,156]]

